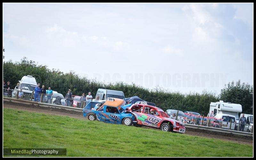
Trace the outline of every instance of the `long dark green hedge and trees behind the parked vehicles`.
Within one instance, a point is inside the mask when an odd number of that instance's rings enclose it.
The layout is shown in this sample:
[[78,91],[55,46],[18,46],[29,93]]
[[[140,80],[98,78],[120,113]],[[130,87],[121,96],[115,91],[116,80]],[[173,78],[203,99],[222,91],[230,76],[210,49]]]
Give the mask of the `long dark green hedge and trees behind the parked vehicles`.
[[98,88],[123,91],[125,97],[139,96],[141,99],[153,102],[157,107],[166,109],[177,109],[181,111],[193,111],[202,115],[207,115],[211,102],[223,100],[241,104],[243,113],[252,114],[253,111],[253,85],[241,83],[238,80],[229,82],[219,95],[209,91],[202,93],[190,92],[182,94],[180,92],[170,92],[161,87],[154,89],[144,88],[135,84],[124,82],[102,83],[96,79],[79,77],[74,71],[63,73],[60,70],[49,69],[47,66],[38,65],[35,61],[28,60],[26,57],[20,62],[9,60],[3,62],[3,78],[10,81],[13,89],[16,84],[25,75],[31,75],[36,78],[37,83],[45,85],[46,88],[52,87],[52,90],[66,95],[68,89],[71,89],[73,95],[82,95],[92,92],[94,97]]

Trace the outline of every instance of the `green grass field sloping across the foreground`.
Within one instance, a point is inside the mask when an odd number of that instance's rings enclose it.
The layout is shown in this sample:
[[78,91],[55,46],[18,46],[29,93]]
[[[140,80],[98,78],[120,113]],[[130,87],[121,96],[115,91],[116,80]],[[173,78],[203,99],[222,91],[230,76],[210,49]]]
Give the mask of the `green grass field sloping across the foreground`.
[[252,145],[15,109],[4,108],[3,130],[4,148],[67,148],[64,157],[253,156]]

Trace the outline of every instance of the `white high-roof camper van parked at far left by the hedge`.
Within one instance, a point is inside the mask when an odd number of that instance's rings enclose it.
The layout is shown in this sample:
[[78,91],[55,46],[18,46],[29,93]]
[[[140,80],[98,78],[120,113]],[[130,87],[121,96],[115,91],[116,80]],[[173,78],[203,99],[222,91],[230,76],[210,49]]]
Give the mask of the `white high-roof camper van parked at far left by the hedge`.
[[32,94],[32,91],[35,90],[37,86],[36,79],[31,75],[23,76],[21,80],[19,80],[19,85],[17,85],[12,91],[12,96],[15,96],[17,91],[22,89],[22,92],[25,94]]

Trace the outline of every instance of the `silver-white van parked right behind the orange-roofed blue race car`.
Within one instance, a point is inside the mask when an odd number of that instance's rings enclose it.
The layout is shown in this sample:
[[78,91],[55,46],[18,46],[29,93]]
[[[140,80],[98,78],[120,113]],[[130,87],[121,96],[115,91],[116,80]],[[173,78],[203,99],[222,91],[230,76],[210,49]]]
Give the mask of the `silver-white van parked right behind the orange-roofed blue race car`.
[[100,100],[107,100],[108,97],[111,98],[119,98],[119,99],[124,99],[124,92],[122,91],[116,91],[116,90],[110,90],[110,89],[101,89],[99,88],[96,96],[100,96]]

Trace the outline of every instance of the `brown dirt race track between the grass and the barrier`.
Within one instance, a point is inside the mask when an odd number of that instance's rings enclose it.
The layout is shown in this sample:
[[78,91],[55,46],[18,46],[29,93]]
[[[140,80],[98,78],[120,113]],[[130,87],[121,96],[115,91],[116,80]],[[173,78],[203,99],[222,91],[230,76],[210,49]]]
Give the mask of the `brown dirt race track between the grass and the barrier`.
[[[69,116],[73,118],[79,118],[79,119],[86,119],[83,117],[82,112],[76,112],[76,111],[70,111],[65,109],[59,109],[59,108],[45,108],[45,107],[39,107],[39,106],[30,106],[30,105],[24,105],[24,104],[17,104],[13,102],[5,102],[3,103],[4,108],[12,108],[12,109],[19,109],[19,110],[25,110],[30,112],[38,112],[38,113],[45,113],[50,115],[62,115],[62,116]],[[146,127],[148,128],[148,127]],[[151,128],[149,128],[151,129]],[[196,130],[196,129],[186,129],[185,134],[187,135],[193,135],[193,136],[203,136],[203,137],[211,137],[216,139],[222,139],[226,141],[232,141],[237,143],[243,143],[243,144],[253,144],[252,137],[247,136],[237,136],[233,134],[224,134],[224,133],[214,133],[211,131],[206,130]]]

